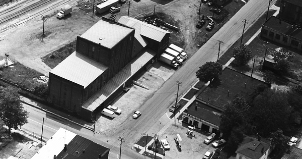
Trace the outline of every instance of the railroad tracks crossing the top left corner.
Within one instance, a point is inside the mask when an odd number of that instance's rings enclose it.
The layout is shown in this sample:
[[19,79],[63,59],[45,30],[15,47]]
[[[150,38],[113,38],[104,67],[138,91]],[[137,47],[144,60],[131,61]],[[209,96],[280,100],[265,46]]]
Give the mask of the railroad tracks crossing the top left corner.
[[[29,0],[29,1],[33,1],[33,0]],[[8,21],[10,21],[12,19],[18,18],[19,16],[21,16],[21,15],[23,15],[23,14],[25,14],[25,13],[27,13],[27,12],[35,9],[35,8],[37,8],[37,7],[40,7],[40,6],[46,4],[46,3],[50,2],[50,1],[51,0],[42,0],[42,1],[39,1],[38,3],[35,3],[33,5],[30,5],[30,6],[27,6],[27,7],[23,8],[23,9],[21,9],[20,11],[18,11],[17,13],[12,13],[12,14],[8,15],[7,17],[3,18],[3,19],[0,19],[0,24],[8,22]],[[44,14],[44,13],[46,13],[46,12],[48,12],[48,11],[50,11],[50,10],[58,7],[58,6],[60,6],[60,5],[68,3],[69,1],[71,1],[71,0],[60,0],[60,1],[52,4],[51,6],[43,9],[43,11],[38,11],[38,12],[32,14],[31,16],[29,16],[27,18],[24,18],[24,19],[22,19],[22,20],[20,20],[20,21],[18,21],[16,23],[14,23],[14,24],[10,24],[8,26],[5,26],[5,27],[1,28],[0,29],[0,33],[3,33],[5,31],[7,31],[7,30],[9,30],[9,29],[11,29],[13,27],[16,27],[18,25],[21,25],[21,24],[23,24],[25,22],[28,22],[28,21],[36,18],[36,17],[40,17],[42,14]]]

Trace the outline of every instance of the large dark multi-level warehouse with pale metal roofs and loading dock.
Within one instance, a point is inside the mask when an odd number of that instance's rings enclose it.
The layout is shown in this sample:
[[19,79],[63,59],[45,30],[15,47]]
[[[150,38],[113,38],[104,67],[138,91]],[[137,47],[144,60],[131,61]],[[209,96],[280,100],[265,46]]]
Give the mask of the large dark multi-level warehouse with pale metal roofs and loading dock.
[[[125,23],[132,20],[122,18]],[[103,17],[78,36],[76,50],[49,73],[49,101],[94,120],[99,109],[168,47],[170,32],[135,23],[128,26]]]

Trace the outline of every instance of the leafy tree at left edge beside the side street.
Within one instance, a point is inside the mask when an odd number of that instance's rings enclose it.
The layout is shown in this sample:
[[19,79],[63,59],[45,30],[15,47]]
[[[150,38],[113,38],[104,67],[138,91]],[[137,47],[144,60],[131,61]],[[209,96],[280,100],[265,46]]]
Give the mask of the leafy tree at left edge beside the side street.
[[18,89],[0,86],[0,118],[9,128],[9,134],[12,128],[17,130],[27,123],[28,113],[23,108]]

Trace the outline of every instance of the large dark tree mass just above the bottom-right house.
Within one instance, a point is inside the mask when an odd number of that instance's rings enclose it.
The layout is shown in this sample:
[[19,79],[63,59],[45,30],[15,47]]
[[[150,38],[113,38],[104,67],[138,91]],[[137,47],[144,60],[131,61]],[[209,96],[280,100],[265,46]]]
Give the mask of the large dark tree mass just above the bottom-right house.
[[285,91],[266,89],[252,102],[250,117],[259,132],[264,135],[288,128],[290,107]]

